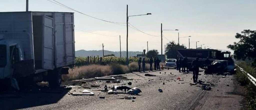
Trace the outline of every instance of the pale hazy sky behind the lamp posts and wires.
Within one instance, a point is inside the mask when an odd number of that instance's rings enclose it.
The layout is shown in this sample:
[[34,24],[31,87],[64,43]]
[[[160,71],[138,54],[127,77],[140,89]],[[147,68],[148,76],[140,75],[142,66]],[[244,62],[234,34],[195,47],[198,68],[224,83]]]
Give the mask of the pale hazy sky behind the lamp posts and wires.
[[[2,12],[25,11],[26,0],[0,0]],[[52,0],[51,0],[52,1]],[[126,23],[128,15],[152,13],[152,15],[129,17],[136,28],[151,35],[161,35],[163,29],[179,29],[180,37],[192,36],[190,41],[200,41],[213,49],[228,50],[227,45],[238,41],[234,36],[243,29],[255,30],[255,0],[56,0],[82,13],[113,22]],[[29,11],[74,12],[47,0],[29,0]],[[75,29],[98,34],[121,35],[122,51],[126,50],[126,27],[97,20],[75,12]],[[126,24],[123,24],[126,25]],[[119,51],[119,37],[101,36],[75,30],[76,50]],[[161,53],[161,38],[153,37],[129,28],[129,51],[157,49]],[[163,35],[178,42],[178,31],[163,31]],[[163,38],[164,45],[168,40]],[[188,47],[188,38],[180,44]],[[190,43],[190,48],[195,48]],[[204,48],[204,46],[203,46]],[[163,50],[164,51],[164,50]]]

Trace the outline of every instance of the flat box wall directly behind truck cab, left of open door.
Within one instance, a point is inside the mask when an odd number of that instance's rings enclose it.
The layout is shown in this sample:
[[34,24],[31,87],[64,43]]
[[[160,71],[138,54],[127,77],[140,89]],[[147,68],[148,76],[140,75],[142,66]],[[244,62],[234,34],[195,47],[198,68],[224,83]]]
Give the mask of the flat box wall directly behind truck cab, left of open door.
[[24,48],[25,60],[34,59],[31,12],[0,13],[0,34]]

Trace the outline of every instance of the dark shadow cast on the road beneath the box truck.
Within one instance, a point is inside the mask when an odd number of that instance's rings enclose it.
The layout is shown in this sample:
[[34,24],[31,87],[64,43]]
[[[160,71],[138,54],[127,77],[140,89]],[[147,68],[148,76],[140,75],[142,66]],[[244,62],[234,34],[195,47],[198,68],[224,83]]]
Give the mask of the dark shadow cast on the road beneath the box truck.
[[1,109],[22,109],[57,103],[71,88],[50,89],[48,86],[33,86],[19,92],[0,94]]

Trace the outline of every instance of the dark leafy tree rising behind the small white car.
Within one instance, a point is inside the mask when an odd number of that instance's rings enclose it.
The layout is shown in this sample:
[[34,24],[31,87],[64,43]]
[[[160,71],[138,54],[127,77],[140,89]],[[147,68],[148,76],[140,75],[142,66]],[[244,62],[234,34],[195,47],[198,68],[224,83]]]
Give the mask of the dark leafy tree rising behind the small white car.
[[169,43],[167,43],[166,46],[166,56],[168,59],[170,58],[177,58],[177,50],[178,49],[186,49],[186,46],[182,45],[178,45],[176,44],[174,41],[171,41]]

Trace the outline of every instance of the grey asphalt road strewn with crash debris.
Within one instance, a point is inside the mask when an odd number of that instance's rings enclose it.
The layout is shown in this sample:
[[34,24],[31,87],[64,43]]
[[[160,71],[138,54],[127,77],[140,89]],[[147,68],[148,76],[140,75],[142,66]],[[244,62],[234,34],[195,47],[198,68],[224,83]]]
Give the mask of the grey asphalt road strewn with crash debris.
[[[147,71],[148,72],[148,71]],[[159,73],[161,72],[161,74]],[[88,109],[88,110],[119,110],[119,109],[242,109],[243,87],[239,86],[233,76],[227,75],[204,75],[199,72],[199,80],[205,81],[205,85],[212,90],[202,90],[201,85],[191,85],[193,82],[192,73],[179,73],[174,69],[148,72],[157,76],[144,76],[145,73],[129,73],[115,76],[120,79],[120,83],[106,83],[106,80],[86,79],[79,81],[66,82],[66,85],[58,89],[48,87],[32,87],[22,92],[12,92],[0,96],[1,109]],[[170,74],[172,73],[172,74]],[[180,77],[181,80],[177,80]],[[104,85],[112,87],[132,82],[129,87],[138,87],[142,93],[140,95],[128,94],[106,94],[103,90]],[[163,82],[165,84],[163,84]],[[100,85],[91,87],[90,85]],[[228,86],[227,86],[228,85]],[[72,87],[72,88],[71,88]],[[95,93],[94,96],[73,96],[69,92],[81,92],[85,88]],[[160,93],[158,89],[162,89]],[[119,91],[122,92],[122,91]],[[100,99],[99,96],[105,96]],[[134,96],[136,99],[120,99],[124,96]]]

